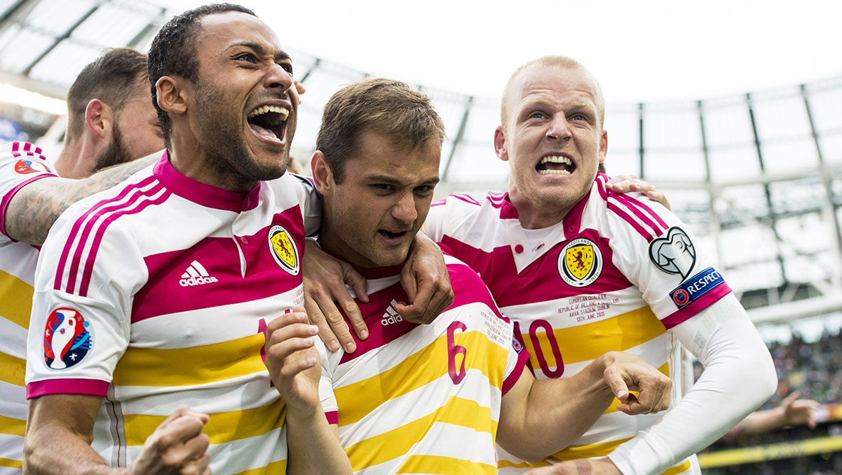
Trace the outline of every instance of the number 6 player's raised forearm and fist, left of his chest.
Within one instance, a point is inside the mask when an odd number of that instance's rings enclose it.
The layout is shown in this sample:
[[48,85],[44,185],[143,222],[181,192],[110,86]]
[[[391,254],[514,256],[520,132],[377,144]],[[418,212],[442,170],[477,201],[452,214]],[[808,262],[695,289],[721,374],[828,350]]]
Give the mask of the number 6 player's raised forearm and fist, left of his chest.
[[351,473],[337,425],[328,424],[319,399],[317,333],[302,307],[275,318],[266,329],[266,367],[286,403],[287,472]]

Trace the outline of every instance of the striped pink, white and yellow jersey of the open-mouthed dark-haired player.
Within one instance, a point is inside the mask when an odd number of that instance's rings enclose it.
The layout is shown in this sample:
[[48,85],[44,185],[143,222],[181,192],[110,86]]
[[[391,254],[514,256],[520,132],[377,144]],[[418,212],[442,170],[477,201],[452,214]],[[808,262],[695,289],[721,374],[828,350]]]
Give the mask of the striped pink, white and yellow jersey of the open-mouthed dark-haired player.
[[218,189],[164,152],[73,205],[35,278],[27,397],[104,397],[92,446],[111,466],[130,464],[187,404],[210,414],[215,474],[285,472],[284,402],[264,366],[264,329],[303,301],[312,193],[290,173],[248,194]]

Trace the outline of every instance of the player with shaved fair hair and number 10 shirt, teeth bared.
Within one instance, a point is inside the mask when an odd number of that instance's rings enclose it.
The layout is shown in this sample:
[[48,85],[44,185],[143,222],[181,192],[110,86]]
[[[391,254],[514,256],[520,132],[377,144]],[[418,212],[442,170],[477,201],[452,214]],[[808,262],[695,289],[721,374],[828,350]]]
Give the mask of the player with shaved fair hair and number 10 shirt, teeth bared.
[[450,195],[433,204],[426,229],[518,323],[536,376],[571,376],[622,350],[679,388],[682,346],[705,370],[665,415],[611,408],[545,462],[501,452],[500,473],[700,473],[695,451],[775,390],[769,350],[690,231],[658,203],[606,187],[604,117],[599,83],[578,62],[546,56],[520,67],[494,133],[509,192]]

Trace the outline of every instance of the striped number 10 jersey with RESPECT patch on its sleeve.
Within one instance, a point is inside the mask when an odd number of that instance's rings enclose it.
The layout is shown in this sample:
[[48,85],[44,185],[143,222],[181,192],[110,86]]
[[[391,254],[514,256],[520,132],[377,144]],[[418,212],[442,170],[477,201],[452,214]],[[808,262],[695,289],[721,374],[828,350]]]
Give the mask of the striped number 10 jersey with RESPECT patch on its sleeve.
[[[507,194],[483,200],[450,195],[433,203],[426,222],[488,284],[501,312],[517,325],[538,378],[571,376],[610,350],[658,368],[679,388],[680,346],[668,333],[730,292],[697,254],[686,227],[663,206],[593,187],[535,247]],[[534,241],[533,241],[534,242]],[[674,392],[671,405],[678,403]],[[538,465],[605,456],[662,414],[628,416],[608,408],[573,446]],[[499,454],[500,473],[530,465]],[[665,473],[697,473],[695,456]]]

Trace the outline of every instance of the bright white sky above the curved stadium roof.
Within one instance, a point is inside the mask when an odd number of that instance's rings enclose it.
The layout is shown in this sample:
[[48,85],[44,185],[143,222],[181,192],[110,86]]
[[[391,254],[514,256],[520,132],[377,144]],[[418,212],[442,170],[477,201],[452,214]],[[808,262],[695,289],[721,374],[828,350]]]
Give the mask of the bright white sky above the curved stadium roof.
[[241,3],[292,50],[491,98],[516,67],[547,54],[584,63],[609,102],[704,99],[842,75],[837,0]]

